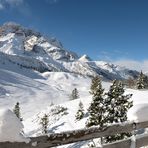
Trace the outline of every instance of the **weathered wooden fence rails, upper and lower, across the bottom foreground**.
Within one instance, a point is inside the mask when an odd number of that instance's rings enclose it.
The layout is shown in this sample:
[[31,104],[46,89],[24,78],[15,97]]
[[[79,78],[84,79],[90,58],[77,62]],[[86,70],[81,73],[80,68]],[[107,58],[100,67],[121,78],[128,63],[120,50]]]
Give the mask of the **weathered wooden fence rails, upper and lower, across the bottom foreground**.
[[[116,124],[105,127],[103,130],[100,130],[98,127],[92,127],[74,131],[54,133],[48,136],[30,137],[31,141],[28,144],[20,142],[3,142],[0,143],[0,148],[48,148],[79,141],[86,141],[93,138],[105,137],[117,133],[132,132],[134,130],[143,128],[148,128],[148,121],[139,123]],[[104,145],[103,148],[130,148],[131,142],[131,139],[126,139]],[[136,137],[135,145],[136,148],[148,145],[148,135]]]

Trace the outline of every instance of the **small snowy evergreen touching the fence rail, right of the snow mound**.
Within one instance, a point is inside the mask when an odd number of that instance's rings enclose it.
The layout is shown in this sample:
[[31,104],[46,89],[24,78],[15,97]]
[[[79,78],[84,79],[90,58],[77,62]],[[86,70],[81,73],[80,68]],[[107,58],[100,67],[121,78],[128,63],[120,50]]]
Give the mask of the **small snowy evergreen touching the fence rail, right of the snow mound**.
[[48,123],[49,123],[48,116],[47,116],[47,114],[44,114],[44,116],[41,118],[41,122],[40,122],[40,124],[42,126],[42,133],[43,134],[47,134]]

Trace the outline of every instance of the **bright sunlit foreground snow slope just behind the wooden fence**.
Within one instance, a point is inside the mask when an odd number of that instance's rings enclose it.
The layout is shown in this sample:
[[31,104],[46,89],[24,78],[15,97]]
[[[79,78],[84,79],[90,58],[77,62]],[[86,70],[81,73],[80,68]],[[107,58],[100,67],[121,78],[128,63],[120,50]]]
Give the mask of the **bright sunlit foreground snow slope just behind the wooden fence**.
[[[103,87],[105,90],[108,90],[109,86],[111,84],[108,82],[103,82]],[[52,105],[48,106],[41,112],[37,113],[31,118],[28,118],[25,120],[24,126],[25,126],[25,133],[28,134],[28,136],[39,136],[42,134],[42,127],[40,125],[40,120],[44,116],[44,114],[47,114],[49,117],[49,126],[48,126],[48,133],[56,133],[56,132],[62,132],[62,131],[69,131],[69,130],[75,130],[85,127],[85,123],[88,119],[87,109],[90,105],[90,102],[92,100],[90,94],[88,93],[88,87],[84,89],[86,92],[86,95],[83,94],[80,95],[79,99],[67,101],[65,103],[61,103],[59,105]],[[145,121],[147,120],[147,115],[143,114],[143,111],[147,111],[148,108],[148,91],[139,91],[139,90],[132,90],[132,89],[126,89],[126,93],[130,94],[132,93],[132,100],[134,106],[129,110],[128,113],[128,120],[129,121]],[[82,102],[84,105],[84,113],[85,116],[82,120],[76,121],[75,115],[78,110],[79,102]],[[31,127],[31,128],[30,128]],[[70,145],[64,145],[63,148],[75,148],[75,147],[87,147],[88,148],[88,142],[81,142],[81,143],[74,143]]]

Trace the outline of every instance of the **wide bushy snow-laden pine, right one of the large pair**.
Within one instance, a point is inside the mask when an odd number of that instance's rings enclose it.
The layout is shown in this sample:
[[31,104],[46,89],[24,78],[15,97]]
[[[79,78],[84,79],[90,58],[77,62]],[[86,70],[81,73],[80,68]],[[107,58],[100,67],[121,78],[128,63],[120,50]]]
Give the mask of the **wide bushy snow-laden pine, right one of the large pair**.
[[[121,82],[113,81],[106,97],[107,124],[127,121],[127,111],[133,106],[130,101],[132,94],[124,95],[124,88]],[[131,133],[116,134],[104,138],[106,143],[114,142],[131,136]]]

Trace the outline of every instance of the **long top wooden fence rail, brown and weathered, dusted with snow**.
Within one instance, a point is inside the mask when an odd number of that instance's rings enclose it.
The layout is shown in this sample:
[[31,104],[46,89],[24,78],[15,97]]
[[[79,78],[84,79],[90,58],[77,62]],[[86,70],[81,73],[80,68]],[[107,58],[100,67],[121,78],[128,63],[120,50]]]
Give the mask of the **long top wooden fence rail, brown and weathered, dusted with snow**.
[[133,130],[148,127],[148,121],[142,123],[124,123],[105,127],[100,130],[98,127],[84,128],[80,130],[67,131],[62,133],[50,134],[48,136],[40,136],[31,138],[32,141],[38,141],[40,146],[46,143],[48,147],[74,143],[78,141],[86,141],[94,138],[105,137],[117,133],[131,132]]

